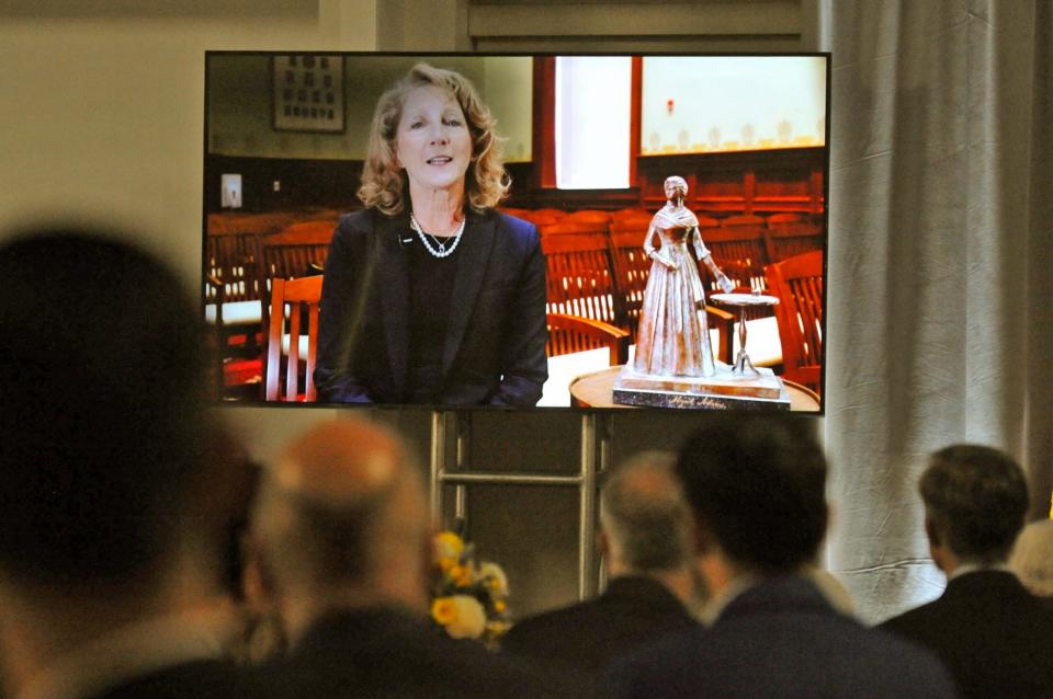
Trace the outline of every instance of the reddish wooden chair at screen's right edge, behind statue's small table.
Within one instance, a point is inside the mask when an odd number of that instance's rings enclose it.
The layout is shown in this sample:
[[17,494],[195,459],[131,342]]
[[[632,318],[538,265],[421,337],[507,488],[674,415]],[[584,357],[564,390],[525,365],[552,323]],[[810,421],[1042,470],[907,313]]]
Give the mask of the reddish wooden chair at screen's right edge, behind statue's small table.
[[783,378],[818,392],[823,376],[823,252],[768,265],[782,343]]

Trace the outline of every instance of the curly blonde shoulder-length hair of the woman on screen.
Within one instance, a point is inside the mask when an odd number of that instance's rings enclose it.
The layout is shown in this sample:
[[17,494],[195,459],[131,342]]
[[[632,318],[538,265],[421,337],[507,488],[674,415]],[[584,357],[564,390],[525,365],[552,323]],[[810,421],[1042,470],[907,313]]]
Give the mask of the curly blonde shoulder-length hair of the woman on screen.
[[472,135],[472,164],[465,173],[465,198],[476,213],[497,205],[508,196],[511,177],[501,157],[502,139],[494,133],[497,119],[483,103],[475,85],[453,70],[417,64],[376,103],[370,142],[362,168],[358,196],[367,207],[393,216],[405,208],[407,177],[398,167],[396,139],[406,96],[417,88],[434,85],[456,100]]

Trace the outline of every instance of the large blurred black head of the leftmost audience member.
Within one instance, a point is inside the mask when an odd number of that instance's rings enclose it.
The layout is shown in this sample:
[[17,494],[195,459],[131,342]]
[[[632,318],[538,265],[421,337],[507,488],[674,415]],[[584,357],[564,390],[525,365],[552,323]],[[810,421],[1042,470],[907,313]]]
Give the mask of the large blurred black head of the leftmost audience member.
[[191,297],[144,252],[79,230],[8,242],[0,278],[0,570],[148,587],[203,461]]

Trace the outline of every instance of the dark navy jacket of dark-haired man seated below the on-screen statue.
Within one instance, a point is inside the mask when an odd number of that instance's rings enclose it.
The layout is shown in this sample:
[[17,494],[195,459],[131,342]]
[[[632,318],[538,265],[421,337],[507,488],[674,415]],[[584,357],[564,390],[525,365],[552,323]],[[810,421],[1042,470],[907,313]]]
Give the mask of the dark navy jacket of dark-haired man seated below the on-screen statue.
[[867,629],[797,576],[734,598],[711,628],[618,662],[604,697],[954,697],[924,649]]

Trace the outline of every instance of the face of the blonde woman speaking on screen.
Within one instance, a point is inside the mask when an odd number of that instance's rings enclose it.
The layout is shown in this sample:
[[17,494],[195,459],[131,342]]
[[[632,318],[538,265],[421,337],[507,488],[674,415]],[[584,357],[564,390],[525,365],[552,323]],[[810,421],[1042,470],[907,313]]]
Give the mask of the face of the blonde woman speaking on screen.
[[409,176],[410,195],[463,192],[464,173],[472,162],[472,134],[457,101],[434,85],[410,91],[398,122],[395,152]]

